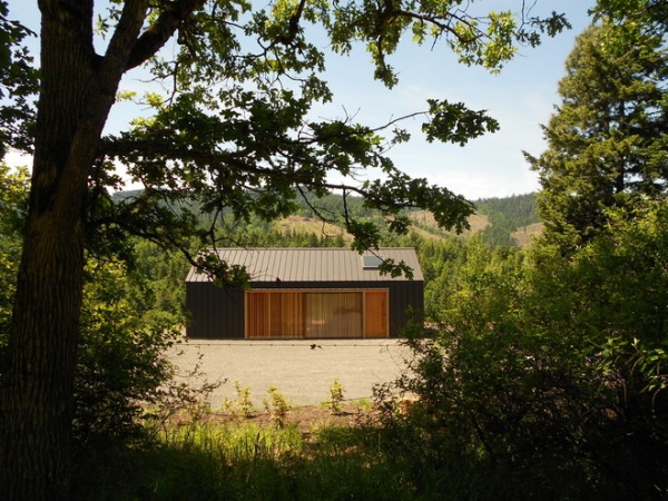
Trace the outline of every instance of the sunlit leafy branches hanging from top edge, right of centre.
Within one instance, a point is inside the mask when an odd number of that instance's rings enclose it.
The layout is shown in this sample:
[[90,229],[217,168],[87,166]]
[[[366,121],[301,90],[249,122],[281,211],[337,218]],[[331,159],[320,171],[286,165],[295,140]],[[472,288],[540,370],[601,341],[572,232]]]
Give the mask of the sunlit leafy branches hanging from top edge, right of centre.
[[445,39],[461,62],[499,69],[514,55],[513,40],[531,40],[532,45],[540,41],[533,27],[540,26],[550,35],[568,27],[563,16],[557,13],[548,19],[531,17],[528,23],[520,23],[510,11],[477,17],[468,9],[458,10],[460,3],[448,0],[351,2],[332,11],[324,4],[314,3],[314,7],[320,10],[316,16],[327,29],[333,49],[347,53],[356,41],[363,42],[375,65],[375,78],[389,87],[396,82],[396,75],[387,59],[399,47],[403,33],[411,32],[420,45],[430,39],[434,42]]

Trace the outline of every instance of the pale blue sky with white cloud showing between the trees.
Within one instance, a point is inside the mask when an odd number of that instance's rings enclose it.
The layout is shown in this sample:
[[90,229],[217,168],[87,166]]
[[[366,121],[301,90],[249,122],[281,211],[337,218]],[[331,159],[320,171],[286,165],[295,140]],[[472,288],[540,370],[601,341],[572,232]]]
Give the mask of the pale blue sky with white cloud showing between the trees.
[[[478,9],[504,9],[522,0],[485,0]],[[525,2],[531,4],[532,2]],[[589,23],[587,10],[595,0],[538,0],[534,11],[566,12],[572,23],[539,48],[521,49],[500,75],[459,65],[444,43],[416,47],[404,43],[391,59],[400,81],[392,90],[373,80],[369,56],[360,48],[350,57],[328,61],[327,79],[334,101],[314,109],[314,118],[355,115],[362,124],[379,127],[386,121],[426,108],[426,99],[462,101],[472,109],[487,109],[501,130],[459,145],[428,144],[420,132],[422,119],[403,124],[412,134],[410,144],[391,151],[396,166],[414,177],[445,186],[470,199],[503,197],[539,189],[538,176],[529,169],[522,150],[533,155],[544,148],[541,124],[547,124],[559,102],[557,84],[574,38]],[[10,0],[10,16],[38,31],[37,1]],[[125,88],[141,87],[140,76],[130,73]],[[127,122],[128,109],[112,110],[108,128]],[[12,161],[12,158],[8,158]],[[16,159],[13,161],[17,161]],[[26,163],[24,160],[22,161]],[[373,173],[370,174],[373,176]]]

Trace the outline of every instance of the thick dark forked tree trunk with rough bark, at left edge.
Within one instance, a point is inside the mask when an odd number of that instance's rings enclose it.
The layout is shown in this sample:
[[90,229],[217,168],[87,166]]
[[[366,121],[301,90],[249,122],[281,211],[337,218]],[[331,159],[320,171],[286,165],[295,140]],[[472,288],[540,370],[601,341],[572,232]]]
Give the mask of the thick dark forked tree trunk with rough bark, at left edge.
[[88,177],[146,11],[145,0],[127,3],[135,9],[129,29],[112,39],[105,58],[92,47],[92,0],[39,3],[41,89],[32,181],[0,394],[3,500],[69,498]]

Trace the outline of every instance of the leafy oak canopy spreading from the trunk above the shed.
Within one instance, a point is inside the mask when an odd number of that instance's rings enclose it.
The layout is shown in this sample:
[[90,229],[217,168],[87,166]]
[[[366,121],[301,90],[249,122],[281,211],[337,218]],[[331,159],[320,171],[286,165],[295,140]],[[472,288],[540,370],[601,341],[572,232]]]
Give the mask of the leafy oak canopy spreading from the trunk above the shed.
[[[98,20],[101,35],[114,33],[124,4],[114,2],[110,13]],[[187,4],[155,4],[143,37],[151,30],[159,33]],[[410,138],[396,127],[399,120],[373,128],[352,117],[312,118],[315,102],[332,99],[322,79],[326,53],[318,45],[328,41],[340,55],[364,47],[375,78],[392,87],[396,72],[390,59],[406,33],[418,43],[444,39],[462,62],[498,70],[512,58],[517,43],[533,46],[542,33],[552,36],[568,27],[562,14],[479,16],[469,12],[471,6],[451,0],[333,4],[281,0],[261,9],[245,1],[193,4],[178,23],[174,55],[165,50],[148,65],[169,90],[125,95],[153,114],[102,140],[90,208],[95,215],[90,242],[98,250],[110,242],[114,249],[122,247],[119,242],[127,234],[181,250],[191,237],[203,245],[227,245],[229,238],[216,230],[217,216],[224,212],[232,210],[238,220],[247,222],[253,214],[268,220],[293,212],[298,196],[331,191],[362,196],[369,208],[389,216],[387,229],[400,235],[410,226],[400,213],[410,207],[432,210],[439,224],[461,232],[473,212],[471,204],[425,179],[412,179],[386,156],[389,148]],[[135,55],[130,67],[141,62],[141,51]],[[424,117],[430,141],[463,146],[498,129],[484,110],[446,100],[430,99],[428,109],[413,116]],[[117,165],[124,165],[145,190],[111,204],[108,187],[122,187]],[[367,169],[377,178],[363,179],[361,173]],[[214,215],[210,226],[196,224],[199,212]],[[379,246],[375,226],[345,209],[318,215],[343,223],[355,238],[354,248]],[[193,262],[224,283],[239,278],[224,264],[216,265],[215,258]]]

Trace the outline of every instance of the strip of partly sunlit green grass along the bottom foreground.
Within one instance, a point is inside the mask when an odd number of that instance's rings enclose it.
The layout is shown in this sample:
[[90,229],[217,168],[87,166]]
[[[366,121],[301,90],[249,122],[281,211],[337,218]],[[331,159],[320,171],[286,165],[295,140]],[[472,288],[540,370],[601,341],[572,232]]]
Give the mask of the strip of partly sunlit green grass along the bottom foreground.
[[310,433],[254,419],[174,424],[143,446],[96,448],[77,459],[72,500],[598,500],[613,492],[549,458],[531,470],[497,463],[473,444],[462,449],[452,429],[430,435],[411,420],[312,424]]

